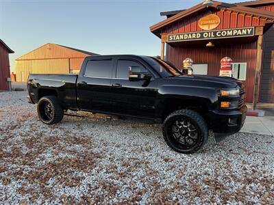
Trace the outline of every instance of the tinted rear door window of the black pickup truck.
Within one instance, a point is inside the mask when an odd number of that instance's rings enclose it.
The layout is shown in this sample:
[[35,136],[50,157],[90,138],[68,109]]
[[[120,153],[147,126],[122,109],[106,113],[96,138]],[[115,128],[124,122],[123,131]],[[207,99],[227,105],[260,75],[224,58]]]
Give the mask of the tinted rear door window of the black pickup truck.
[[112,77],[112,60],[92,60],[86,64],[85,74],[86,77]]

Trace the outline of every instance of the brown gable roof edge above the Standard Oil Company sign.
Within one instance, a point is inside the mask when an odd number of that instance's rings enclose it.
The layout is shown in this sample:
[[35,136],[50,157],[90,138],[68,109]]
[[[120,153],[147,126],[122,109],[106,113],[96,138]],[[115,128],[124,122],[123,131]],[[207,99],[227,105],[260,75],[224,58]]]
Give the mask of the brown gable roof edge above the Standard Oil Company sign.
[[274,22],[274,12],[270,12],[270,11],[266,11],[266,10],[259,10],[256,8],[249,8],[249,7],[238,5],[238,4],[222,3],[219,1],[214,1],[212,3],[212,5],[210,5],[208,7],[206,7],[202,3],[199,3],[198,5],[195,5],[188,10],[179,12],[178,14],[175,14],[174,16],[171,16],[170,18],[162,20],[162,21],[160,21],[160,23],[156,23],[155,25],[153,25],[149,28],[152,33],[154,33],[156,36],[160,37],[160,29],[162,29],[162,27],[171,25],[172,23],[176,22],[177,20],[182,20],[183,18],[186,18],[187,16],[190,16],[197,12],[201,12],[201,10],[209,10],[212,8],[216,9],[216,10],[228,10],[231,12],[238,12],[238,13],[242,13],[242,14],[248,14],[251,16],[257,16],[258,18],[264,18],[264,20],[266,20],[266,23]]

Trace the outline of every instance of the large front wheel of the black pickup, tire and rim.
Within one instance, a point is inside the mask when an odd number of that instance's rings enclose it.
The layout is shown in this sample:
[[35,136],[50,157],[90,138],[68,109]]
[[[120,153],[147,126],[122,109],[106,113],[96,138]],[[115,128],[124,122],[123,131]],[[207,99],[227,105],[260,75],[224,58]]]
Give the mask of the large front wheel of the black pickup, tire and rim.
[[171,113],[162,129],[164,140],[176,152],[191,154],[208,141],[208,126],[199,113],[180,109]]

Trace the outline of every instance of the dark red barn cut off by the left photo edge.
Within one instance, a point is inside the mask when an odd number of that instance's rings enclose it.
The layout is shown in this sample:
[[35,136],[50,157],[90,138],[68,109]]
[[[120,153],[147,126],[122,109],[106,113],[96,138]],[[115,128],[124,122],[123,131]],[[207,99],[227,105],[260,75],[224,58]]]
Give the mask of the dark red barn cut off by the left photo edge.
[[9,90],[10,61],[9,53],[14,53],[3,40],[0,39],[0,90]]

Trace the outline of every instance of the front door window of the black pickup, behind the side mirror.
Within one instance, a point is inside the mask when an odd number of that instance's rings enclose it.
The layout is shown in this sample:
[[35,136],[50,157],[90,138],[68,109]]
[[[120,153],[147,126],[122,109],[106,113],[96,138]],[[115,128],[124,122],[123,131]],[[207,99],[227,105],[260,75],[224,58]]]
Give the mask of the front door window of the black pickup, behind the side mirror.
[[129,79],[129,66],[135,67],[136,70],[140,72],[147,72],[147,69],[144,68],[141,64],[136,61],[131,60],[118,60],[116,78],[118,79]]

